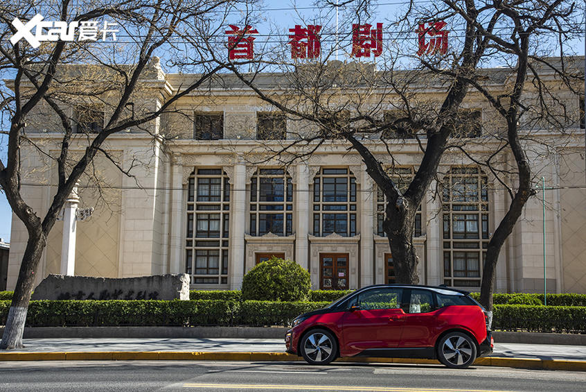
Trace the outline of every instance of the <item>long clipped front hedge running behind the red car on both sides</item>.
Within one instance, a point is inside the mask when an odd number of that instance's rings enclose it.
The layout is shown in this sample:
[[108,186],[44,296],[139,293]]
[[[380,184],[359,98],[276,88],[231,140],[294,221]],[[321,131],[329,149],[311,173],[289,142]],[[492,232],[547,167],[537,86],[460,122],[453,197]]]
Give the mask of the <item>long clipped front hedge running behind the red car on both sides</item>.
[[[299,314],[328,302],[232,300],[58,300],[30,301],[26,325],[290,325]],[[10,301],[0,301],[0,325]],[[586,333],[586,307],[495,305],[493,330]]]

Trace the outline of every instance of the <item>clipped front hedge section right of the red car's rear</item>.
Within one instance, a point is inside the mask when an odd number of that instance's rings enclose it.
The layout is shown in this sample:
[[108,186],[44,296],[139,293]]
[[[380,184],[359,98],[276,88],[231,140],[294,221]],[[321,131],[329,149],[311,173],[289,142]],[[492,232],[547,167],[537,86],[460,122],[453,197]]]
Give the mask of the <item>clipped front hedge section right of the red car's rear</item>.
[[586,333],[586,307],[495,305],[492,330]]

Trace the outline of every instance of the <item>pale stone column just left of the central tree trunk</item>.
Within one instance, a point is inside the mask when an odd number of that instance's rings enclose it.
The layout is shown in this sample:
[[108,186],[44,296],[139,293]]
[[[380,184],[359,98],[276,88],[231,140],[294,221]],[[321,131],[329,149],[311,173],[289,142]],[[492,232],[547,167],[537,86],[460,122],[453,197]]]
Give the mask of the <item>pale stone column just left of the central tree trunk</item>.
[[373,273],[373,231],[374,231],[374,198],[373,180],[366,173],[366,167],[362,165],[360,173],[360,285],[368,286],[374,283]]

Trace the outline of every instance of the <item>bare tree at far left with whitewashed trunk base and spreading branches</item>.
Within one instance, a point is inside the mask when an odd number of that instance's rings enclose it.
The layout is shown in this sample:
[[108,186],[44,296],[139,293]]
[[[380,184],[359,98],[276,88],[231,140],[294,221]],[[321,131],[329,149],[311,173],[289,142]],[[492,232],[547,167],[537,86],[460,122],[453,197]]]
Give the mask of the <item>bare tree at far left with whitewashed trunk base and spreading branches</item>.
[[[22,347],[34,274],[48,233],[76,182],[91,168],[96,155],[105,156],[132,176],[128,168],[123,168],[116,157],[107,152],[104,146],[107,138],[132,129],[151,133],[154,142],[163,140],[153,131],[152,121],[169,112],[177,99],[200,87],[222,69],[222,65],[206,58],[203,43],[209,42],[236,3],[229,0],[123,0],[114,3],[30,0],[0,4],[0,24],[4,32],[0,69],[4,79],[10,80],[1,89],[1,110],[10,129],[5,133],[8,135],[8,158],[0,162],[0,185],[12,210],[28,231],[0,348]],[[72,40],[62,37],[56,42],[40,42],[38,48],[30,46],[26,40],[10,42],[10,36],[17,34],[17,24],[12,21],[18,19],[26,24],[37,14],[46,21],[68,22],[69,33],[72,24],[81,26],[95,20],[101,24],[103,19],[115,22],[118,41],[107,44],[101,40],[96,42],[95,38],[81,40],[76,34]],[[38,17],[36,20],[38,22]],[[154,54],[158,51],[180,53],[181,50],[184,51],[182,56],[190,57],[190,66],[198,72],[197,78],[182,86],[181,92],[161,97],[161,105],[149,105],[144,99],[148,90],[145,80],[157,79],[161,72]],[[35,116],[38,118],[42,114],[55,118],[53,132],[62,133],[60,142],[55,144],[57,155],[51,155],[39,138],[27,136],[27,128],[35,128],[32,123]],[[27,204],[26,195],[21,191],[24,173],[20,171],[20,152],[28,146],[48,157],[57,167],[55,193],[44,216],[39,216],[40,212]],[[73,146],[81,146],[82,153],[72,153]]]

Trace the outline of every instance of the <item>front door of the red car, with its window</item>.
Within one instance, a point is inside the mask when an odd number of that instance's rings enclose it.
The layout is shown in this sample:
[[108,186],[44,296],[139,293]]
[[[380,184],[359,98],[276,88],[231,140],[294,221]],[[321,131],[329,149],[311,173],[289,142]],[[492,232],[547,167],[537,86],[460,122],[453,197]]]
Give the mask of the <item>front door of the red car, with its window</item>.
[[343,351],[354,355],[362,350],[396,348],[405,316],[402,293],[402,288],[377,287],[352,298],[342,319]]

